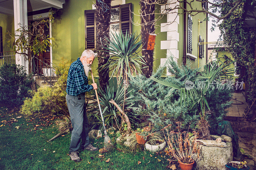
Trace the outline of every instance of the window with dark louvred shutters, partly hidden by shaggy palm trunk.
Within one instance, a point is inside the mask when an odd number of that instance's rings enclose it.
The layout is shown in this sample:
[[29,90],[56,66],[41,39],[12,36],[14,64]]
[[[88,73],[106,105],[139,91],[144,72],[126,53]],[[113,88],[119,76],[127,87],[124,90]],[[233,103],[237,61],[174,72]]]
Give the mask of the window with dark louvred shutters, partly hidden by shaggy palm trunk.
[[[110,9],[110,32],[132,33],[132,4],[112,6]],[[85,10],[85,49],[96,50],[95,10]]]

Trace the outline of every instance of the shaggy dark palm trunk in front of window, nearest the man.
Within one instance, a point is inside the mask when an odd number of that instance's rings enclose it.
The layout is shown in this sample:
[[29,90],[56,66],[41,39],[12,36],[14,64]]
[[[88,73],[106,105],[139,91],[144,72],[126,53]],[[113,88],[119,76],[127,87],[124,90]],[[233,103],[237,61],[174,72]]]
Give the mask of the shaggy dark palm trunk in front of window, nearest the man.
[[[103,4],[109,7],[111,7],[111,0],[101,0]],[[109,39],[109,25],[110,25],[110,10],[104,10],[105,8],[102,8],[102,3],[99,3],[98,0],[96,0],[96,48],[98,51],[98,69],[99,69],[99,83],[100,87],[104,90],[105,87],[108,84],[108,68],[100,69],[101,66],[107,63],[108,61],[108,53],[103,53],[102,50],[104,50],[104,47],[107,47],[107,39]],[[106,51],[106,50],[105,50]]]

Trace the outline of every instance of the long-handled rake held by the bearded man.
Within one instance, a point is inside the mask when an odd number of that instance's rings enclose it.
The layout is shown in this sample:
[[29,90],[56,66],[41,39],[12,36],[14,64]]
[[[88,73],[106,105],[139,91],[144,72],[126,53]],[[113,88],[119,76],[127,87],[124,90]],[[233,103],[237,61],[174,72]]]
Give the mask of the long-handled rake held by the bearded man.
[[[92,70],[91,70],[91,74],[92,74]],[[94,83],[93,74],[92,74],[92,82]],[[96,98],[97,98],[97,101],[98,101],[98,105],[99,105],[99,109],[100,109],[100,116],[102,118],[102,123],[103,123],[103,127],[104,127],[104,136],[105,136],[104,137],[104,149],[105,149],[105,151],[109,151],[110,149],[113,148],[113,144],[111,142],[111,138],[109,138],[109,136],[107,134],[106,126],[105,126],[105,123],[104,123],[104,118],[103,118],[101,108],[100,108],[100,101],[99,101],[99,97],[98,97],[98,93],[97,93],[96,89],[95,89],[95,94],[96,94]]]

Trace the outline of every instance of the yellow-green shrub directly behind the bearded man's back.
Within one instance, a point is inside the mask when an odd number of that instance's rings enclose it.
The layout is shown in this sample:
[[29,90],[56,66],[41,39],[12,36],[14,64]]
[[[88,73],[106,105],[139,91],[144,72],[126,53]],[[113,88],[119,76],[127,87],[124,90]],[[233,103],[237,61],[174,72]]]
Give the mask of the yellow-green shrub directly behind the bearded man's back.
[[[21,112],[23,114],[30,115],[33,113],[52,113],[55,115],[65,115],[60,106],[68,111],[66,103],[66,88],[70,64],[71,61],[65,60],[64,58],[60,60],[60,64],[55,67],[56,74],[59,76],[58,80],[52,87],[40,87],[37,92],[34,93],[32,99],[27,98],[21,108]],[[92,79],[90,79],[90,77],[88,79],[89,83],[92,83]],[[92,91],[87,92],[86,96],[91,94]],[[49,99],[54,104],[52,104]]]

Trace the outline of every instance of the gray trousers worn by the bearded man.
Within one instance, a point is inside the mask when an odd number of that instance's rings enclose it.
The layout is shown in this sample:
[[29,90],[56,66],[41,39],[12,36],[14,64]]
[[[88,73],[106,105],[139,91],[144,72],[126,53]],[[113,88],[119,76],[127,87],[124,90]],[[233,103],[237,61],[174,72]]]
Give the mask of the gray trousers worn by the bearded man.
[[83,95],[80,95],[79,97],[67,94],[66,101],[73,127],[69,146],[69,153],[71,153],[77,151],[80,146],[86,147],[89,145],[89,123],[86,115],[85,99]]

